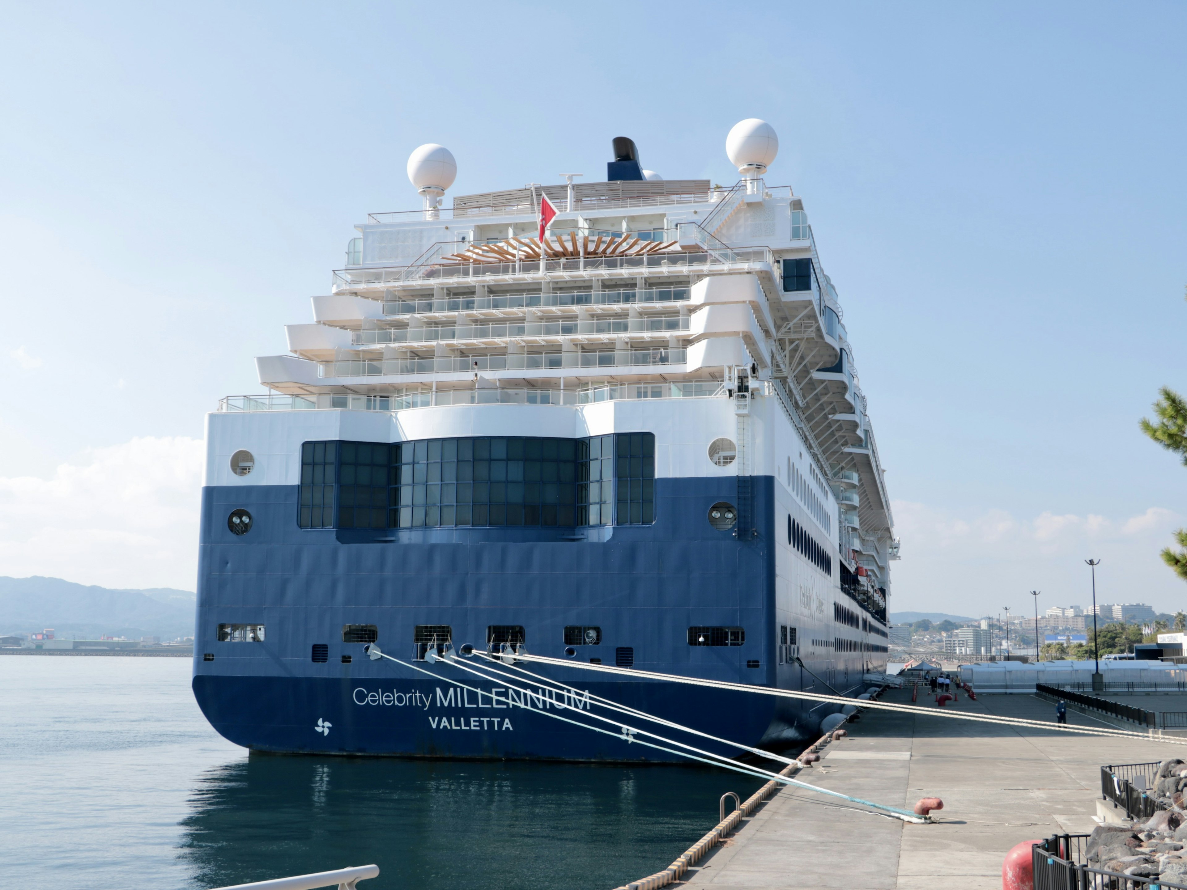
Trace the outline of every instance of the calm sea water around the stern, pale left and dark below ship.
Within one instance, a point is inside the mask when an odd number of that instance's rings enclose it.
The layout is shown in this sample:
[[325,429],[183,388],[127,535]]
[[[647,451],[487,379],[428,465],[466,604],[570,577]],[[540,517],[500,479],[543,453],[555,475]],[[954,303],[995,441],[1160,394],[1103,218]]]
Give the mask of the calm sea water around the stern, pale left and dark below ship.
[[707,768],[249,756],[188,659],[0,656],[5,886],[212,888],[376,863],[361,890],[607,890],[760,782]]

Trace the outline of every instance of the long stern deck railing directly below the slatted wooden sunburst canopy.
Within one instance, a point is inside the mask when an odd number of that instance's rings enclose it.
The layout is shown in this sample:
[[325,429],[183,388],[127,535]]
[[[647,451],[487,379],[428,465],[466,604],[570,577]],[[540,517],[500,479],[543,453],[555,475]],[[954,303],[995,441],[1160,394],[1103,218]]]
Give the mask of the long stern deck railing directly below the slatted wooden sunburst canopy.
[[[774,254],[764,247],[728,250],[665,250],[642,256],[584,256],[564,260],[522,260],[519,262],[430,262],[387,268],[338,269],[334,291],[389,287],[412,282],[446,282],[538,275],[661,274],[747,272],[775,267]],[[777,274],[777,273],[776,273]]]

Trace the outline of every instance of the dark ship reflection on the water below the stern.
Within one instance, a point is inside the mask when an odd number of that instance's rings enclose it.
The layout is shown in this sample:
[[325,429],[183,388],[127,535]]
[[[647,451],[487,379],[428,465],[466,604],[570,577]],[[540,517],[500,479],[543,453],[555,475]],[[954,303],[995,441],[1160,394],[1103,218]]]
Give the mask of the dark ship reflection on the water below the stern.
[[761,782],[685,767],[252,756],[182,822],[199,886],[376,863],[361,885],[607,890],[666,867]]

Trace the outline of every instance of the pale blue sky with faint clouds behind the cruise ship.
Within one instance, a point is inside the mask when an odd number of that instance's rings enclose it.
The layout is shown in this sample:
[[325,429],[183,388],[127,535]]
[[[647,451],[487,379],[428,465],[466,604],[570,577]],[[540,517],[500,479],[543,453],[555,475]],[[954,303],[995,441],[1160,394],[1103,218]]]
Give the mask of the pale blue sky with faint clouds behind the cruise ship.
[[[1179,608],[1156,552],[1187,469],[1137,419],[1187,390],[1187,6],[570,8],[7,5],[0,573],[192,589],[185,439],[260,390],[252,357],[309,319],[353,223],[417,205],[415,146],[452,150],[455,193],[598,178],[620,134],[729,183],[725,133],[758,116],[901,502],[894,608],[1083,603],[1090,555],[1103,602]],[[165,507],[103,488],[145,438],[182,468]],[[131,536],[63,554],[70,513]]]

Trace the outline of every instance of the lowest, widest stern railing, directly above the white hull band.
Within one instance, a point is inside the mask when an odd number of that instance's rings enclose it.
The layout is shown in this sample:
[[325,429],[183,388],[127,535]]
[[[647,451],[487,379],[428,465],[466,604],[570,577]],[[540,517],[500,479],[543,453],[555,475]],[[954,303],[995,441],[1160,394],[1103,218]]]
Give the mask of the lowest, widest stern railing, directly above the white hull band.
[[241,411],[400,411],[443,405],[590,405],[629,399],[711,399],[725,396],[716,380],[664,383],[597,383],[580,389],[405,388],[391,395],[228,395],[220,400],[221,413]]

